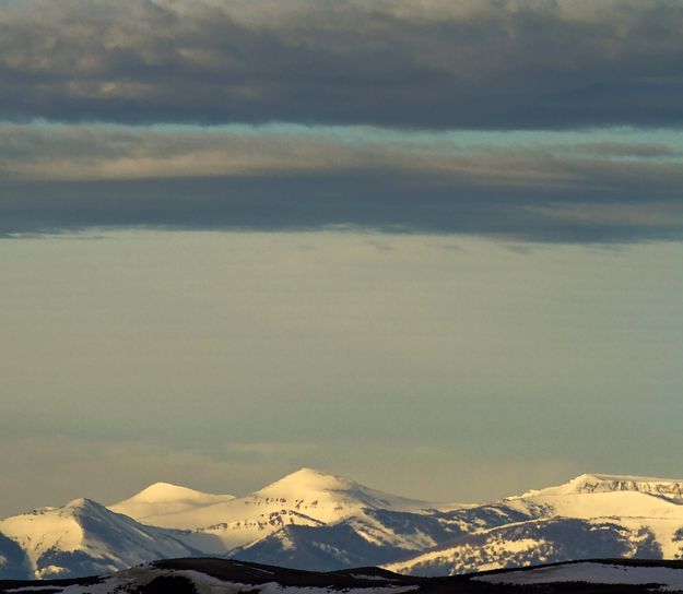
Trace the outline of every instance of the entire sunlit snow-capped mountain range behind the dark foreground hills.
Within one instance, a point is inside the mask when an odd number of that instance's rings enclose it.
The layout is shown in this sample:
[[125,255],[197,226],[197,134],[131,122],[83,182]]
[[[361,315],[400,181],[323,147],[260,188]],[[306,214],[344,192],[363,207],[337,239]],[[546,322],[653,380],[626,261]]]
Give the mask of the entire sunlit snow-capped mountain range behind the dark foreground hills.
[[76,578],[177,557],[415,577],[683,556],[683,480],[587,474],[483,504],[434,503],[302,468],[244,497],[154,484],[0,520],[0,579]]

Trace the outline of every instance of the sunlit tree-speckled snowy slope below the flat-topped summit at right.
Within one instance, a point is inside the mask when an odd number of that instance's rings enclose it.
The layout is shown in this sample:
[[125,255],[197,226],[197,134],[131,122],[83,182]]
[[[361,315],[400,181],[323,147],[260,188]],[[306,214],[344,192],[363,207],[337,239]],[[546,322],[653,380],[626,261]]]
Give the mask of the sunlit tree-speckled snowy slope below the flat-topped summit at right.
[[[387,569],[448,575],[587,557],[679,559],[683,556],[681,480],[581,475],[493,506],[452,512],[469,536]],[[478,527],[497,513],[510,523]],[[518,520],[515,521],[515,513]],[[526,516],[526,521],[525,521]]]

